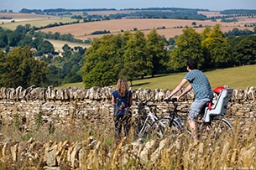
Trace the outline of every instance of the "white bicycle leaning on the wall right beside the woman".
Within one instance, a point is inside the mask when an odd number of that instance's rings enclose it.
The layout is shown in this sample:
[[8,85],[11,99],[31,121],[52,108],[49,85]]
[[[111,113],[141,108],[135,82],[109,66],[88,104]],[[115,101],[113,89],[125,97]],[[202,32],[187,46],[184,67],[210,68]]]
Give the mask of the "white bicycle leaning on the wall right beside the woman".
[[[149,113],[147,113],[145,106],[149,107]],[[138,116],[133,121],[133,130],[135,137],[146,138],[149,137],[149,130],[154,121],[157,121],[159,117],[156,115],[157,105],[148,105],[144,102],[138,103]]]

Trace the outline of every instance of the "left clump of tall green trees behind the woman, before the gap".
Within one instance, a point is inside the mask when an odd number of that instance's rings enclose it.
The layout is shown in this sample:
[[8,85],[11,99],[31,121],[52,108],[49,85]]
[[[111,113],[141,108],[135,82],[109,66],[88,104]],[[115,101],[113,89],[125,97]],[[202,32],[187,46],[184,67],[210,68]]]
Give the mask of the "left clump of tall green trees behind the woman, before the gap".
[[148,37],[139,30],[104,35],[86,49],[85,64],[81,68],[85,87],[113,85],[120,76],[132,84],[132,80],[152,75],[153,70],[158,73],[157,69],[165,64],[164,44],[155,31]]

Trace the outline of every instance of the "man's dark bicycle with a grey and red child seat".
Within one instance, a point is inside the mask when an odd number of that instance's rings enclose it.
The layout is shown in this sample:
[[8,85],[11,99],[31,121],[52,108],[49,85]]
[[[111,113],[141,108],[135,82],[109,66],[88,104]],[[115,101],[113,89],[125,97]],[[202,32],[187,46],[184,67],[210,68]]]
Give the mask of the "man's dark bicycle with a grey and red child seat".
[[[210,102],[202,109],[198,120],[196,120],[199,139],[213,141],[222,139],[223,136],[232,137],[234,135],[231,123],[222,117],[227,113],[227,104],[231,97],[232,89],[222,89],[215,105],[212,107],[212,102]],[[160,118],[152,124],[150,128],[151,137],[162,138],[171,134],[170,137],[175,139],[181,133],[184,133],[184,130],[191,134],[178,114],[178,112],[188,111],[177,110],[176,98],[170,101],[175,106],[174,110],[169,111],[169,116]],[[168,102],[168,106],[170,107],[170,102]]]

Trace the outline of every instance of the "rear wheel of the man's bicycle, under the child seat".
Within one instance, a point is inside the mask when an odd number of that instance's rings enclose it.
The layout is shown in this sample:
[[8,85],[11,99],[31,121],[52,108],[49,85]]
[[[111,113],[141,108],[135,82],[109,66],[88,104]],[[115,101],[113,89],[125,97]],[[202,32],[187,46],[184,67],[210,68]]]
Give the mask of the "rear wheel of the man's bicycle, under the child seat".
[[199,137],[202,141],[216,142],[233,137],[232,125],[223,118],[213,117],[209,123],[201,123]]

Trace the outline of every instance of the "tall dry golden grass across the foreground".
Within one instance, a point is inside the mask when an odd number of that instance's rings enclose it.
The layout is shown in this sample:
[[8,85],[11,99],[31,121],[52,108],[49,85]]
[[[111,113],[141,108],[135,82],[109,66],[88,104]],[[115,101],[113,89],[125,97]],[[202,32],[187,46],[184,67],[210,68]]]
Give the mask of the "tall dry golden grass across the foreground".
[[[8,131],[3,134],[18,141],[18,137],[23,137],[26,132],[21,132],[15,122],[13,122],[14,126],[10,125],[12,123],[4,126]],[[170,142],[169,137],[166,137],[162,141],[150,141],[151,147],[147,149],[149,155],[140,156],[140,158],[138,158],[139,149],[148,144],[144,143],[137,148],[132,136],[127,139],[123,138],[122,142],[115,142],[112,125],[89,124],[84,121],[80,126],[73,124],[65,129],[57,128],[54,133],[49,133],[45,129],[34,130],[30,137],[34,137],[35,141],[39,142],[81,142],[93,137],[97,143],[95,150],[85,150],[86,154],[82,159],[86,161],[83,162],[82,169],[254,169],[256,167],[256,141],[254,140],[256,126],[254,126],[254,121],[249,118],[236,118],[232,125],[235,135],[233,137],[223,136],[212,146],[209,146],[208,142],[193,145],[189,135],[181,135],[175,142]],[[24,138],[19,140],[26,141]],[[154,157],[156,146],[159,146],[157,148],[162,147],[159,150],[159,157]],[[10,162],[1,162],[0,167],[7,168],[10,164]],[[65,167],[67,164],[67,162],[63,162],[60,167]],[[31,162],[28,160],[28,162],[17,165],[20,168],[28,168]]]

